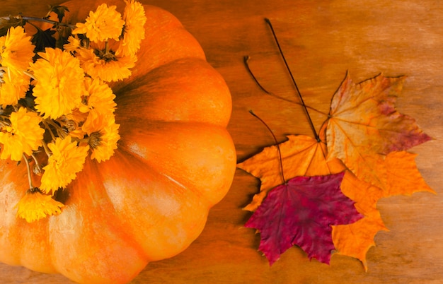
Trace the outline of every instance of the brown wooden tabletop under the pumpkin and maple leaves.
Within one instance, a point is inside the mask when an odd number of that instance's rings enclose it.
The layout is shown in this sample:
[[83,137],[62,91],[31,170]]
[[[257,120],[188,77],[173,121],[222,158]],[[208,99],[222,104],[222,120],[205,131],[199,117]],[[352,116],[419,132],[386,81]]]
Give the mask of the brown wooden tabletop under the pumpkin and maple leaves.
[[[0,14],[43,16],[59,0],[3,0]],[[358,2],[358,4],[357,4]],[[33,3],[33,4],[31,4]],[[377,73],[407,75],[398,110],[417,119],[434,141],[412,149],[418,168],[437,195],[418,193],[379,201],[389,232],[379,232],[369,250],[369,271],[356,259],[333,256],[330,266],[309,261],[297,247],[272,267],[257,251],[260,235],[243,227],[242,211],[259,182],[236,171],[226,198],[215,206],[202,235],[182,254],[146,266],[132,283],[443,283],[443,2],[434,0],[144,0],[171,11],[201,43],[207,59],[232,93],[229,131],[238,161],[273,144],[256,119],[279,141],[285,134],[311,135],[301,107],[266,95],[297,100],[263,18],[270,18],[307,105],[328,112],[345,72],[355,82]],[[325,119],[312,113],[318,128]],[[0,264],[0,283],[71,283],[59,275]]]

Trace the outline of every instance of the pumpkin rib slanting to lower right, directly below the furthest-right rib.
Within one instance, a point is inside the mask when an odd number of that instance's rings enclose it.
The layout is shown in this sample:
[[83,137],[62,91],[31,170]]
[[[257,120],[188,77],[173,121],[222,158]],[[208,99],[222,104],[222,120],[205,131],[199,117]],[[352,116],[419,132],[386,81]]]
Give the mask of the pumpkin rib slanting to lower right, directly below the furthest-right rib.
[[[178,186],[171,181],[171,179],[168,179],[161,174],[161,172],[149,170],[150,166],[146,165],[143,160],[135,158],[132,155],[128,156],[126,153],[122,153],[120,150],[115,154],[115,157],[105,162],[103,166],[104,167],[100,167],[100,172],[102,172],[102,174],[106,177],[104,182],[105,191],[107,192],[108,196],[113,196],[113,198],[110,197],[110,199],[116,208],[115,210],[118,211],[117,216],[125,218],[125,220],[130,219],[128,222],[130,225],[129,230],[134,235],[139,236],[137,237],[137,242],[151,242],[151,238],[158,235],[159,232],[160,234],[167,232],[167,230],[163,232],[163,228],[158,227],[157,225],[163,224],[162,227],[166,226],[166,228],[168,226],[180,226],[179,224],[181,222],[178,222],[176,219],[182,220],[183,218],[189,218],[191,215],[192,218],[190,219],[193,220],[191,223],[195,223],[195,225],[197,225],[197,232],[201,232],[207,218],[207,207],[209,203],[206,202],[205,199],[195,195],[192,191],[190,192],[188,188],[183,189],[182,187]],[[120,176],[118,179],[112,172],[117,167],[121,167],[122,170],[120,171]],[[137,172],[134,169],[137,169]],[[121,185],[126,184],[126,182],[123,182],[125,180],[132,181],[133,183],[137,184],[136,187],[132,187],[130,190],[136,190],[136,196],[140,196],[139,198],[129,200],[126,199],[127,201],[125,202],[118,201],[119,198],[122,198],[121,196],[128,195],[128,191],[124,186]],[[145,180],[147,183],[144,183]],[[140,182],[142,182],[142,184],[140,184]],[[162,188],[161,191],[159,191],[160,185]],[[165,188],[168,188],[166,193],[164,190]],[[146,196],[156,197],[148,198]],[[186,202],[183,203],[182,201]],[[137,209],[139,208],[144,208],[145,212],[143,215],[135,216],[133,211],[138,212],[139,210]],[[192,212],[183,211],[185,208],[192,208]],[[156,212],[154,219],[152,218],[151,211]],[[186,217],[187,215],[189,216]],[[131,221],[132,218],[135,218],[138,221]],[[189,223],[190,220],[187,222]],[[137,230],[137,227],[142,224],[143,229],[139,228],[140,230]],[[195,236],[193,235],[195,231],[193,229],[190,231],[190,235],[189,232],[186,232],[185,235],[180,238],[180,242],[182,242],[185,247],[188,247],[190,242],[195,239]],[[151,235],[151,238],[148,237],[149,235]],[[171,237],[172,236],[173,235],[171,235]],[[147,245],[148,247],[151,246],[151,244],[144,245]],[[181,245],[180,248],[182,248]],[[173,253],[169,256],[175,254],[176,253]],[[162,258],[164,258],[164,256],[162,256]],[[158,256],[148,254],[149,261],[157,259]]]

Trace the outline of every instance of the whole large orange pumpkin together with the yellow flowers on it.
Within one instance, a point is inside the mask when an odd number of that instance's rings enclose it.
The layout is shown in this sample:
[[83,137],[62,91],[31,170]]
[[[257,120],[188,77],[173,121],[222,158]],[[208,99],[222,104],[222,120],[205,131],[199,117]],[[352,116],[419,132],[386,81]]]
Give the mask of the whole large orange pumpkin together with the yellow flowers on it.
[[229,189],[231,97],[170,13],[79,4],[0,20],[0,261],[127,283]]

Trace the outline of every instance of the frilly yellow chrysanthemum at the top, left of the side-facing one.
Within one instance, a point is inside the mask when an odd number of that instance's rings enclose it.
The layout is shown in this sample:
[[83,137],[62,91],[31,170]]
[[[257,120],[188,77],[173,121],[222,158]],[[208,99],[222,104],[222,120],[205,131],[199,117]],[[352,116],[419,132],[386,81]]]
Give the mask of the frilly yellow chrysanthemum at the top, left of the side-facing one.
[[122,14],[115,11],[116,8],[117,6],[108,7],[107,4],[101,4],[95,12],[89,12],[86,23],[76,23],[77,28],[72,33],[86,34],[91,42],[119,40],[125,21],[122,19]]

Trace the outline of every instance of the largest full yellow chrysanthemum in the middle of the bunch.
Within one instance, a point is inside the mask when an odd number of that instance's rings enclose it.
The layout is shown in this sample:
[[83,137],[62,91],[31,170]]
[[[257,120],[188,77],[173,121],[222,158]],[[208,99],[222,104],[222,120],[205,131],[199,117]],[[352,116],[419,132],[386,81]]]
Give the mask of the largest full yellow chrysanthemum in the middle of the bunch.
[[57,119],[81,103],[84,95],[84,71],[79,59],[62,49],[46,48],[42,59],[31,64],[35,77],[35,109],[43,117]]

